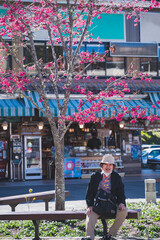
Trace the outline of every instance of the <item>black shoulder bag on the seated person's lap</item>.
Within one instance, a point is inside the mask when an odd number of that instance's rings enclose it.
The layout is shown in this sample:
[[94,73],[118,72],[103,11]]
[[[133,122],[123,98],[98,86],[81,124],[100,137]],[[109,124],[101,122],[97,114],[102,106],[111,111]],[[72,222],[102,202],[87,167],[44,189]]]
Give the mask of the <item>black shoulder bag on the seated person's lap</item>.
[[116,197],[99,189],[94,198],[93,211],[101,217],[115,218],[117,213]]

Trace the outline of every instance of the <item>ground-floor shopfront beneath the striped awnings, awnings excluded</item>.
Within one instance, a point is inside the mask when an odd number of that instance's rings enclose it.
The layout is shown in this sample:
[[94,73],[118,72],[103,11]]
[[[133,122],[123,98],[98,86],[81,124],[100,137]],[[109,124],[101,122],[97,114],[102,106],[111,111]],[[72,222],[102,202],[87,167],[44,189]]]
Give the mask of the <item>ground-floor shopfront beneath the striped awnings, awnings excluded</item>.
[[[11,118],[7,120],[11,121]],[[54,178],[55,148],[46,118],[25,117],[19,122],[10,122],[7,130],[1,125],[0,178],[10,180],[32,180]],[[43,122],[43,129],[39,123]],[[2,122],[3,124],[3,122]],[[152,124],[154,129],[160,123]],[[101,141],[99,149],[87,148],[91,131],[96,128]],[[65,177],[88,178],[93,171],[100,170],[99,162],[105,153],[114,155],[117,171],[121,176],[141,172],[140,132],[146,129],[145,121],[131,124],[124,121],[120,128],[116,120],[70,126],[65,136]],[[10,135],[10,133],[12,133]]]

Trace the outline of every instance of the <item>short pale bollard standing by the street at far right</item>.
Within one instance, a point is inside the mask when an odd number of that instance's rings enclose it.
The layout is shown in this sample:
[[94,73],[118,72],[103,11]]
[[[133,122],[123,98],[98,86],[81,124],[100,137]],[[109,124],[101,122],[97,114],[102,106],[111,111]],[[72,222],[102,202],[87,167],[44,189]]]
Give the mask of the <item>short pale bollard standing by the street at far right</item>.
[[145,198],[146,202],[156,203],[156,180],[145,179]]

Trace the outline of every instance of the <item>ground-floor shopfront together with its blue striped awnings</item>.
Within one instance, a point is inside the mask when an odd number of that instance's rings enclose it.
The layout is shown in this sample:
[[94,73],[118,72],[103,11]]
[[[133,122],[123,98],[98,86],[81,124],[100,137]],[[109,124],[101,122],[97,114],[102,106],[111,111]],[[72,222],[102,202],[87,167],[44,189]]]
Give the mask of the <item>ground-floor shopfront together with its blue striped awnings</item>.
[[[32,93],[34,102],[39,102],[36,92]],[[158,106],[151,105],[158,94],[150,94],[150,101],[123,98],[104,101],[108,106],[105,112],[97,113],[98,118],[105,118],[105,123],[86,123],[80,126],[74,123],[65,135],[65,177],[88,177],[93,171],[100,170],[99,161],[105,153],[112,153],[117,161],[117,171],[124,174],[141,172],[141,140],[140,131],[152,128],[145,119],[130,123],[131,117],[126,115],[123,121],[113,118],[121,112],[123,104],[128,109],[145,109],[148,116],[160,115]],[[159,98],[158,98],[159,99]],[[152,102],[151,102],[152,100]],[[156,100],[157,101],[157,100]],[[67,115],[77,111],[78,99],[70,99]],[[54,117],[58,116],[56,100],[49,99]],[[90,104],[84,105],[84,108]],[[112,120],[111,120],[112,119]],[[123,123],[123,124],[122,124]],[[122,124],[123,126],[121,126]],[[158,126],[159,122],[155,122]],[[96,128],[101,141],[99,149],[88,149],[87,142],[91,138],[91,130]],[[155,127],[154,127],[155,128]],[[27,99],[0,99],[0,178],[11,180],[54,178],[55,149],[50,126],[44,114],[35,109]],[[68,172],[68,171],[71,172]]]

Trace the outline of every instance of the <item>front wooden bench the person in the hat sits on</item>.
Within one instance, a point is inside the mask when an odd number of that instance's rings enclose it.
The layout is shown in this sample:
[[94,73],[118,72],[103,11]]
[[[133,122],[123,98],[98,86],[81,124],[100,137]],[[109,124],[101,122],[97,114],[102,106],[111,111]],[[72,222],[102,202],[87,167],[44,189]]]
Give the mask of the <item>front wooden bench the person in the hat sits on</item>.
[[[141,210],[128,210],[127,219],[138,219]],[[53,211],[53,212],[10,212],[0,214],[0,220],[32,220],[35,226],[35,238],[33,240],[40,240],[39,237],[39,223],[40,220],[47,221],[64,221],[68,219],[80,219],[86,218],[85,211]],[[104,234],[107,231],[106,221],[102,221]]]

